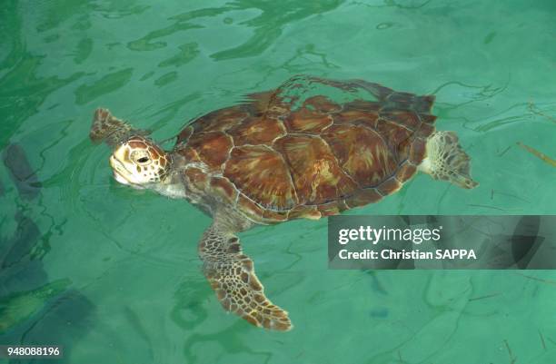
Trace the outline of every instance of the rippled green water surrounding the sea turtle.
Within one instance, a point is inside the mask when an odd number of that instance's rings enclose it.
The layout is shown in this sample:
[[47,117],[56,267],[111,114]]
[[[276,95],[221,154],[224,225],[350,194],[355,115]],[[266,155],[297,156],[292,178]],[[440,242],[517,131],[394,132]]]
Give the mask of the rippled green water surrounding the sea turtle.
[[0,150],[40,183],[0,163],[0,343],[79,364],[554,363],[555,272],[329,271],[325,220],[241,235],[295,325],[257,330],[200,271],[210,219],[118,185],[87,135],[98,106],[164,139],[293,74],[362,78],[434,93],[481,186],[419,175],[351,213],[554,214],[556,169],[517,144],[556,158],[554,18],[552,0],[5,0]]

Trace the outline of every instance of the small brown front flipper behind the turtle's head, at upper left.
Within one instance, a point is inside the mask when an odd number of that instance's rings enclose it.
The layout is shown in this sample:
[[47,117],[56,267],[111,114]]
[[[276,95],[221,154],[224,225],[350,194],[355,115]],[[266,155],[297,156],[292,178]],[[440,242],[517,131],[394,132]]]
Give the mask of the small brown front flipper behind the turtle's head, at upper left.
[[114,146],[132,135],[147,135],[148,132],[132,128],[129,123],[114,117],[107,109],[96,109],[89,137],[94,143],[106,142]]

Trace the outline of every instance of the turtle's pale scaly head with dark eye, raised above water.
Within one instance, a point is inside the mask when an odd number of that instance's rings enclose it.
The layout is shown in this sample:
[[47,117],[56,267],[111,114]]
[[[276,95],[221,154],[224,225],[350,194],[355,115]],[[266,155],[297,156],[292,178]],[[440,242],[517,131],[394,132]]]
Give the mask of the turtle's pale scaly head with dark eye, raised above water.
[[164,182],[170,169],[170,155],[149,139],[134,135],[115,145],[110,166],[117,182],[143,189]]

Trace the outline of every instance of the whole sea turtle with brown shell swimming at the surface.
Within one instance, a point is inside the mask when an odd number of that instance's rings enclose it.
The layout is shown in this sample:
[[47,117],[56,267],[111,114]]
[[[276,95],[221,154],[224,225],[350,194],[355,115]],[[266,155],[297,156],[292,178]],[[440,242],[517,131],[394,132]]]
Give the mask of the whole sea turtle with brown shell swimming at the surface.
[[[340,95],[311,95],[318,87]],[[361,80],[294,76],[186,124],[170,151],[105,109],[94,113],[90,137],[114,149],[117,182],[185,198],[213,217],[198,252],[225,310],[290,330],[236,234],[378,202],[418,170],[475,187],[456,134],[435,132],[433,101]]]

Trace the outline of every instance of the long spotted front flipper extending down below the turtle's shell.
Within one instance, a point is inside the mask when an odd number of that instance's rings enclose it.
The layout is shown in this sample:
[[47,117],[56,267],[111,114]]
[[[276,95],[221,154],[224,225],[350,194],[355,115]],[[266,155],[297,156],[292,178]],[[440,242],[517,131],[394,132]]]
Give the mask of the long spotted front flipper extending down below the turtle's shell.
[[204,231],[199,256],[204,262],[204,275],[224,310],[232,311],[255,326],[282,331],[292,329],[288,313],[264,295],[253,261],[243,254],[233,231],[215,221]]

